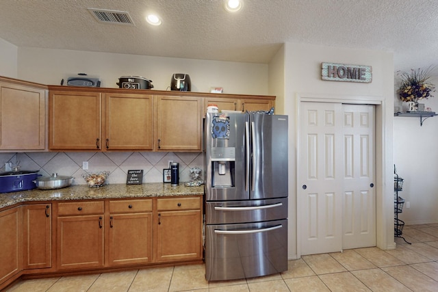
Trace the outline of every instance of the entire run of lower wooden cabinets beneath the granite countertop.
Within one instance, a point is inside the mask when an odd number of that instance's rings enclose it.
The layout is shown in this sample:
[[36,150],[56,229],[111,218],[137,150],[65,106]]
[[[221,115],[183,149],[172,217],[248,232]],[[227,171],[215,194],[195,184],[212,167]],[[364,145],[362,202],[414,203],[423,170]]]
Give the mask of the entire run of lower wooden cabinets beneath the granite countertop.
[[202,196],[26,203],[0,211],[0,290],[25,274],[203,259]]

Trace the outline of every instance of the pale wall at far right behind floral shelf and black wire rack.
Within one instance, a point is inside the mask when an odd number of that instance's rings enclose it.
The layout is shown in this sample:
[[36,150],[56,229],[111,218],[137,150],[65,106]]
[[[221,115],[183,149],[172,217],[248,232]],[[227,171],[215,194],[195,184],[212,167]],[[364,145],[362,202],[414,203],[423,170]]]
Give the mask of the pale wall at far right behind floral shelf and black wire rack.
[[[438,78],[431,80],[438,85]],[[399,82],[396,83],[396,89]],[[438,94],[421,100],[426,107],[438,112]],[[407,104],[397,95],[396,108],[406,111]],[[394,163],[397,173],[404,179],[399,196],[409,202],[404,204],[399,219],[405,224],[438,222],[438,117],[428,118],[420,127],[420,118],[394,118]]]

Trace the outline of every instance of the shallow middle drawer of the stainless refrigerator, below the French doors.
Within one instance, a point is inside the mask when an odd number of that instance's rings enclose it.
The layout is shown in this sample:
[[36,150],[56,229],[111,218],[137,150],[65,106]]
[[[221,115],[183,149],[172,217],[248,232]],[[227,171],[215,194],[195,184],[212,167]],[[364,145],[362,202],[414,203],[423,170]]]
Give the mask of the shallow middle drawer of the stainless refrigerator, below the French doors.
[[206,202],[207,224],[263,222],[287,218],[287,198]]

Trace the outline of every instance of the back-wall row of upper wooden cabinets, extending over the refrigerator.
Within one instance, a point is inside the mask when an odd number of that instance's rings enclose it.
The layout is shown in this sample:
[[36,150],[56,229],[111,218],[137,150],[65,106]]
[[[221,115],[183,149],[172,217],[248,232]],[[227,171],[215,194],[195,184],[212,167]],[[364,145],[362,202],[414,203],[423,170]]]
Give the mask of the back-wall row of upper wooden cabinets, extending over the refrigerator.
[[274,96],[49,86],[50,150],[202,151],[209,103],[269,110]]

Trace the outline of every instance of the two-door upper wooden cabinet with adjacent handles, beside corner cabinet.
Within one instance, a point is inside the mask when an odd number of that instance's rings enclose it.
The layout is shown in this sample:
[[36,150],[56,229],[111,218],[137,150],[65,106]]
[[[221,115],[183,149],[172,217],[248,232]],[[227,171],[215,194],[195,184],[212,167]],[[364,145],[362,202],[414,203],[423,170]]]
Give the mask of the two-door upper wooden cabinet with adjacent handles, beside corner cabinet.
[[144,94],[49,93],[51,150],[153,150],[153,99]]

